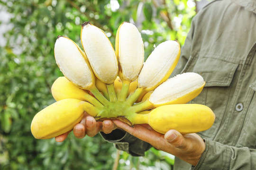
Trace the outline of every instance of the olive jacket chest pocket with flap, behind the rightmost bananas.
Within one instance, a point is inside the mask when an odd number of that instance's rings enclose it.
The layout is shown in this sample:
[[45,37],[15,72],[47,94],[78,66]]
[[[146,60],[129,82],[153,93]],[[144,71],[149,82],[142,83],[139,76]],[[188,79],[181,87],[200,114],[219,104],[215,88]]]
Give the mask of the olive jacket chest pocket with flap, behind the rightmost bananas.
[[228,104],[230,84],[237,68],[238,63],[195,55],[189,59],[188,64],[183,69],[183,72],[200,74],[206,82],[202,92],[189,103],[206,105],[216,115],[213,126],[198,133],[202,138],[213,139],[219,130]]

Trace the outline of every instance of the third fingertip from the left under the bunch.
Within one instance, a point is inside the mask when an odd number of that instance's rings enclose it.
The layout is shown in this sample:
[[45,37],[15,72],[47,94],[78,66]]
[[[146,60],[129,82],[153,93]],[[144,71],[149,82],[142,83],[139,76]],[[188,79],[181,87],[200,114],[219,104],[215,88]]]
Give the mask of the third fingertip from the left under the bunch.
[[96,120],[91,116],[86,117],[85,125],[86,125],[86,134],[90,137],[95,136],[100,131],[99,129],[101,128],[99,127],[99,125],[97,126]]

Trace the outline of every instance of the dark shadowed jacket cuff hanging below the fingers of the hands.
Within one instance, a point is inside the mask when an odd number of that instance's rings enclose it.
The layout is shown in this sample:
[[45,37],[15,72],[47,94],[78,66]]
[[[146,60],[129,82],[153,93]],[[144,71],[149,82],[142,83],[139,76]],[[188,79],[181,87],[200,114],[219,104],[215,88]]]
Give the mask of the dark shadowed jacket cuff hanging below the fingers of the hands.
[[135,136],[120,129],[113,130],[110,134],[101,132],[104,140],[113,143],[119,150],[125,151],[132,156],[144,156],[145,152],[152,147]]

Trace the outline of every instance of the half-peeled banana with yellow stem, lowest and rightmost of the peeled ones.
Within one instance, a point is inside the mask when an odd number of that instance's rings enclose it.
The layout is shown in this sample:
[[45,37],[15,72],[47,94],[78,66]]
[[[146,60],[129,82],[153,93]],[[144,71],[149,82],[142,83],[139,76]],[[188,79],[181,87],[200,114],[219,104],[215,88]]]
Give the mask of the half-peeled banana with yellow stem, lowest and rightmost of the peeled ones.
[[155,88],[146,101],[132,108],[136,111],[167,104],[185,104],[201,93],[205,81],[197,73],[183,73],[169,78]]

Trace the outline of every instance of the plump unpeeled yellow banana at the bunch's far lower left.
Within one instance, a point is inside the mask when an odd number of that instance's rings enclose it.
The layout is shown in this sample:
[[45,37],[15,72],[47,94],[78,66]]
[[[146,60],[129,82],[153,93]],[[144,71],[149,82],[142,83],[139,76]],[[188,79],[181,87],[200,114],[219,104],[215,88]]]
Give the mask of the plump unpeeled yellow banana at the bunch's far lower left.
[[31,132],[37,139],[49,139],[73,129],[83,117],[83,101],[64,99],[39,111],[31,123]]

